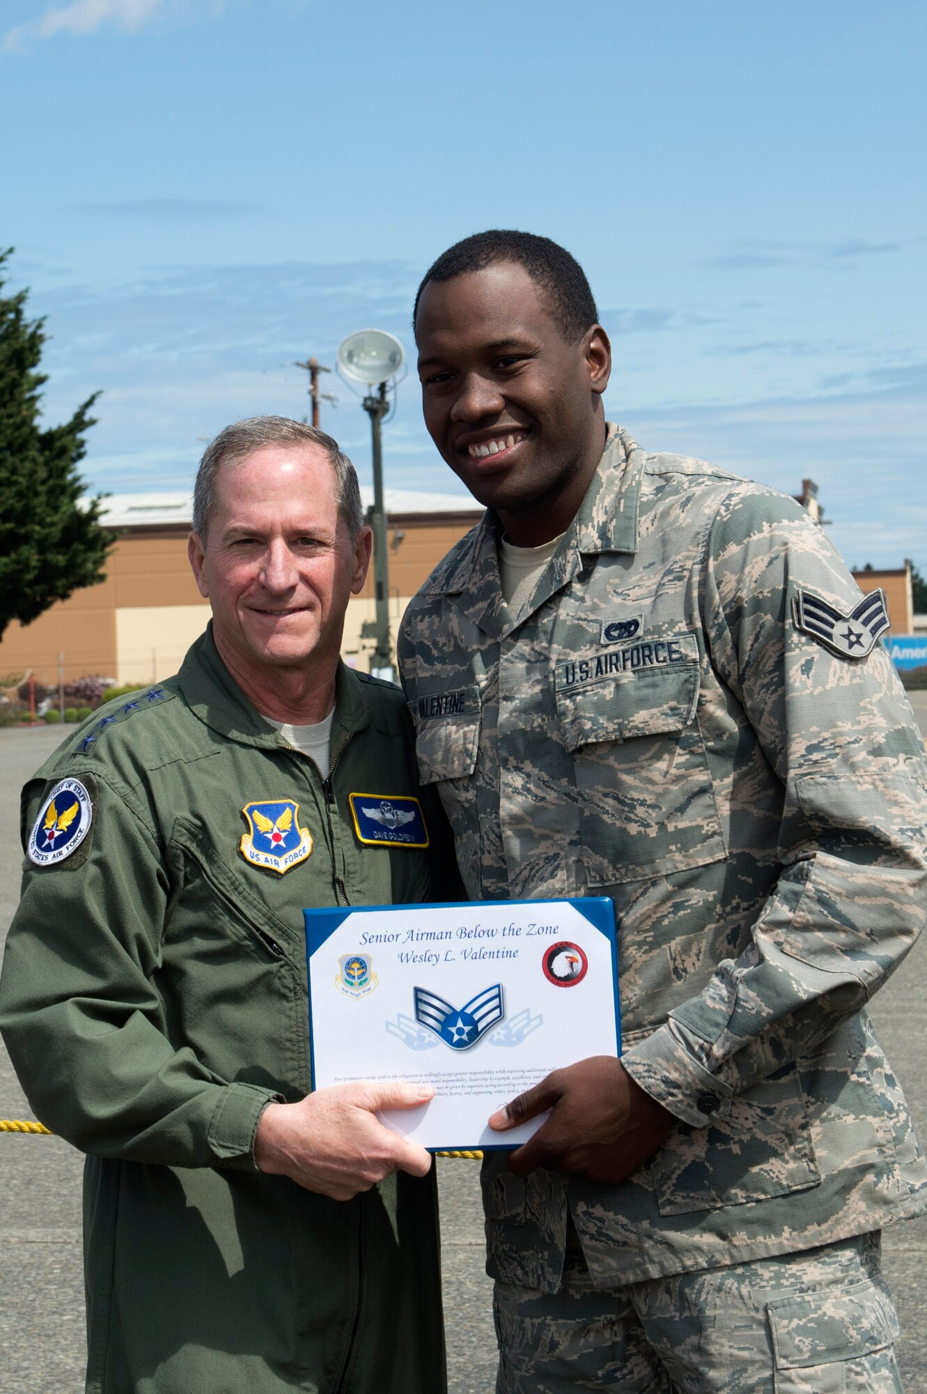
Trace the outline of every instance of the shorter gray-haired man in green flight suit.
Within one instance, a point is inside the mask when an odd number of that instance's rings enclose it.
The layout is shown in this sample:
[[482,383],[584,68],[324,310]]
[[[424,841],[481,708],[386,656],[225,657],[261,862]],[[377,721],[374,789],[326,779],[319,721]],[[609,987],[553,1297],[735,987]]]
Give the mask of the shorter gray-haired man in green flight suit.
[[[38,1117],[88,1153],[86,1388],[434,1394],[431,1158],[376,1118],[423,1094],[309,1092],[303,907],[458,891],[402,694],[338,658],[358,480],[320,431],[244,421],[193,526],[209,631],[24,790],[0,1020]],[[360,841],[352,793],[415,846]]]

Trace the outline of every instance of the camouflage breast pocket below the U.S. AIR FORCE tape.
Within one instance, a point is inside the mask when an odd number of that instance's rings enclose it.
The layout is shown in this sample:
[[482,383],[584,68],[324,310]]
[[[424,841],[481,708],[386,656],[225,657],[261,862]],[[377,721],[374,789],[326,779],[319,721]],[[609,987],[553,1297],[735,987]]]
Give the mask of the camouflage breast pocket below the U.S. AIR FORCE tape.
[[560,728],[573,757],[590,887],[665,875],[725,856],[697,700],[695,651],[690,661],[557,693]]

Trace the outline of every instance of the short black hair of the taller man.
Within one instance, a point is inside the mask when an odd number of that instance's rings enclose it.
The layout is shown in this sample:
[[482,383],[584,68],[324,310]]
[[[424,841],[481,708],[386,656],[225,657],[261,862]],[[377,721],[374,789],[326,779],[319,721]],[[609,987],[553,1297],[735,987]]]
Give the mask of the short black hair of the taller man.
[[582,339],[599,322],[586,272],[565,247],[553,243],[550,237],[537,237],[536,233],[494,227],[454,243],[429,266],[415,296],[412,330],[415,332],[419,316],[422,291],[430,280],[451,280],[505,261],[523,266],[539,290],[544,291],[564,339],[571,343]]

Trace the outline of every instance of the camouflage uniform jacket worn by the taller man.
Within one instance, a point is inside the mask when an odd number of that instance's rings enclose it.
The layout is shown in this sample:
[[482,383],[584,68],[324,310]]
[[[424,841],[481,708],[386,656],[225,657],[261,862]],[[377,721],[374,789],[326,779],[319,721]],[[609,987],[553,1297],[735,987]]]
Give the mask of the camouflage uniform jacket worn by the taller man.
[[472,898],[612,898],[624,1061],[679,1122],[622,1185],[494,1154],[489,1271],[554,1291],[566,1206],[600,1287],[923,1213],[864,1004],[924,920],[924,749],[873,633],[828,627],[860,592],[824,531],[615,427],[519,615],[497,531],[406,612],[419,772]]

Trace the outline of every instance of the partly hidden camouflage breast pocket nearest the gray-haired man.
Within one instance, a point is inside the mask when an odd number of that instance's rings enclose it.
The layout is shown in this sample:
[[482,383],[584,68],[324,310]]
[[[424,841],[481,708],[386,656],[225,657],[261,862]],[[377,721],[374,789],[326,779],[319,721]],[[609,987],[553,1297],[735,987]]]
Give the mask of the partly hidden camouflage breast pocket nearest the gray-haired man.
[[454,829],[457,857],[468,887],[479,885],[480,846],[476,815],[476,757],[480,743],[480,701],[476,686],[452,693],[455,710],[423,715],[447,697],[419,697],[409,703],[415,721],[415,754],[419,779],[437,788]]

